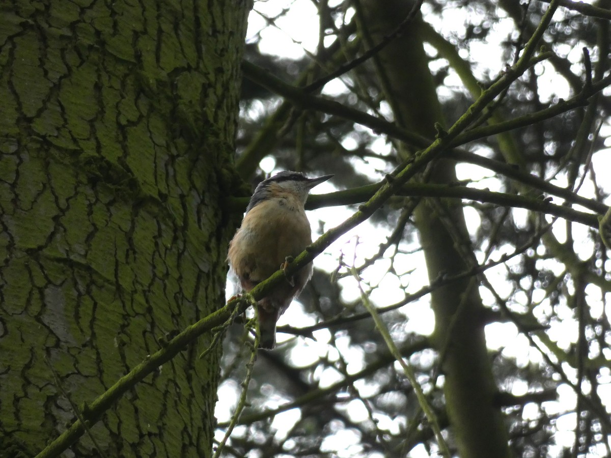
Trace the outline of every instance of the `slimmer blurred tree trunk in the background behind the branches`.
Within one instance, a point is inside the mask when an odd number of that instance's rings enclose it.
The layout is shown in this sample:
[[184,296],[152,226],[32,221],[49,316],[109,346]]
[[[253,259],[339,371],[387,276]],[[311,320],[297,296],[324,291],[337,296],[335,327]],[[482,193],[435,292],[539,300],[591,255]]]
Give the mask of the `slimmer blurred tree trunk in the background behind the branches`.
[[[364,33],[379,43],[405,18],[412,2],[361,2]],[[415,16],[404,33],[375,57],[393,114],[404,128],[434,138],[435,123],[444,125],[428,58]],[[408,153],[409,154],[409,153]],[[456,181],[451,162],[439,160],[428,180]],[[414,211],[431,281],[468,271],[475,263],[459,200],[425,200]],[[459,456],[508,457],[508,435],[500,410],[486,349],[483,305],[477,283],[467,278],[431,294],[435,313],[434,343],[442,358],[445,408]]]

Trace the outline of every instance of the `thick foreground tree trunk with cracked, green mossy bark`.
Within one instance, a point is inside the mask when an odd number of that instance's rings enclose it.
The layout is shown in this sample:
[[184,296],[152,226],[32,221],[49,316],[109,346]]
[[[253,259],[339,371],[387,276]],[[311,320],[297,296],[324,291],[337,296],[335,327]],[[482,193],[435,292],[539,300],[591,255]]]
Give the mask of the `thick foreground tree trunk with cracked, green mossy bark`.
[[[40,451],[74,407],[224,303],[235,225],[221,198],[232,185],[247,9],[0,7],[3,453]],[[221,349],[200,360],[209,342],[92,427],[106,456],[210,455]],[[65,456],[98,453],[86,435]]]

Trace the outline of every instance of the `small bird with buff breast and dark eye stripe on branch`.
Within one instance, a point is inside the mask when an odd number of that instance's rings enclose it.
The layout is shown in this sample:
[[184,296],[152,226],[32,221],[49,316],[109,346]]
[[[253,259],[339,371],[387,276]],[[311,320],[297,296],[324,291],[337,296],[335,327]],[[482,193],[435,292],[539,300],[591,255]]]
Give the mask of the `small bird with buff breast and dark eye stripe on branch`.
[[[257,185],[227,254],[244,291],[251,291],[312,243],[305,201],[310,189],[332,176],[307,178],[284,170]],[[276,322],[310,280],[312,271],[312,263],[307,264],[257,302],[260,348],[276,346]]]

